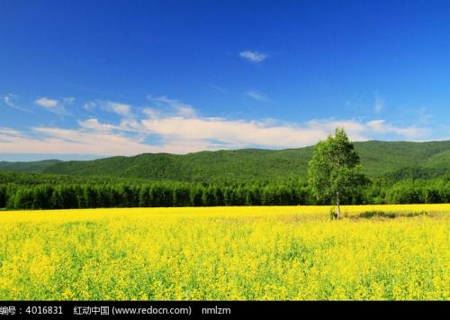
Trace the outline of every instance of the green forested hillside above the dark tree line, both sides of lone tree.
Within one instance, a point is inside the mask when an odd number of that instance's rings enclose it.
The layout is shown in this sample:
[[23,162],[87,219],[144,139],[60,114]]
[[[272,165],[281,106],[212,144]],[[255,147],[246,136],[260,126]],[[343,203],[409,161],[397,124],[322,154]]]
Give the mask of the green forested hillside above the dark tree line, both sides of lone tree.
[[[431,176],[450,172],[450,141],[373,141],[355,142],[355,146],[369,177],[398,171],[401,175],[410,175],[423,170],[426,171],[425,176],[428,172]],[[58,162],[42,172],[186,181],[280,180],[305,176],[312,151],[313,147],[281,151],[202,151],[186,155],[148,153],[134,157]]]

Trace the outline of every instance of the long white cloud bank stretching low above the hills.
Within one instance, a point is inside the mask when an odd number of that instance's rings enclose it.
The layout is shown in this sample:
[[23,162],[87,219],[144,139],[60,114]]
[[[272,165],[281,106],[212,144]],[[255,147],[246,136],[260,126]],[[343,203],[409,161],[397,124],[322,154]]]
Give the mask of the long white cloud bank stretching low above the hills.
[[[131,114],[131,106],[107,102],[103,107],[121,115],[118,123],[102,123],[96,118],[78,122],[76,129],[34,127],[30,132],[0,128],[0,152],[132,155],[142,152],[187,153],[203,150],[247,147],[298,148],[312,145],[344,127],[351,140],[425,140],[430,131],[416,126],[398,126],[383,119],[319,119],[305,123],[283,123],[274,119],[251,121],[203,117],[167,96],[148,96],[157,107]],[[46,101],[47,105],[54,105]],[[147,139],[159,142],[148,143]]]

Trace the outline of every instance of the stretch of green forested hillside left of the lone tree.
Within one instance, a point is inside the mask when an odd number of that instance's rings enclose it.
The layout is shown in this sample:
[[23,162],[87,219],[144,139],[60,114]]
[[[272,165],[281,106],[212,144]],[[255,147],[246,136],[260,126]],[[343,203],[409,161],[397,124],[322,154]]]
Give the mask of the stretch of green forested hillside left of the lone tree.
[[69,161],[44,172],[187,181],[285,179],[304,175],[311,154],[311,148],[300,152],[240,150],[202,151],[187,155],[141,154]]

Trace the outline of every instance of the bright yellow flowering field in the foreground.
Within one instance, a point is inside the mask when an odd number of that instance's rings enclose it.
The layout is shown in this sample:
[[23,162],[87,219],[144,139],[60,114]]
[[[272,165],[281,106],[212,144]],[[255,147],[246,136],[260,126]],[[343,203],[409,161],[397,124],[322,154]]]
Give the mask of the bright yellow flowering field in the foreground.
[[0,300],[450,299],[450,205],[329,209],[1,212]]

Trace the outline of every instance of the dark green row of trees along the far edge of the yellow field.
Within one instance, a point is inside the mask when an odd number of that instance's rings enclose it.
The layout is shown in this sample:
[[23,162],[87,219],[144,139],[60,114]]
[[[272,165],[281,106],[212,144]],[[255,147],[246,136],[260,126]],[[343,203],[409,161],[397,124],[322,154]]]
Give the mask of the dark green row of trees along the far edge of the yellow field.
[[[71,209],[151,206],[297,206],[329,205],[314,197],[306,180],[247,183],[0,184],[0,207],[8,209]],[[410,179],[394,184],[374,179],[342,205],[449,203],[450,176]]]

